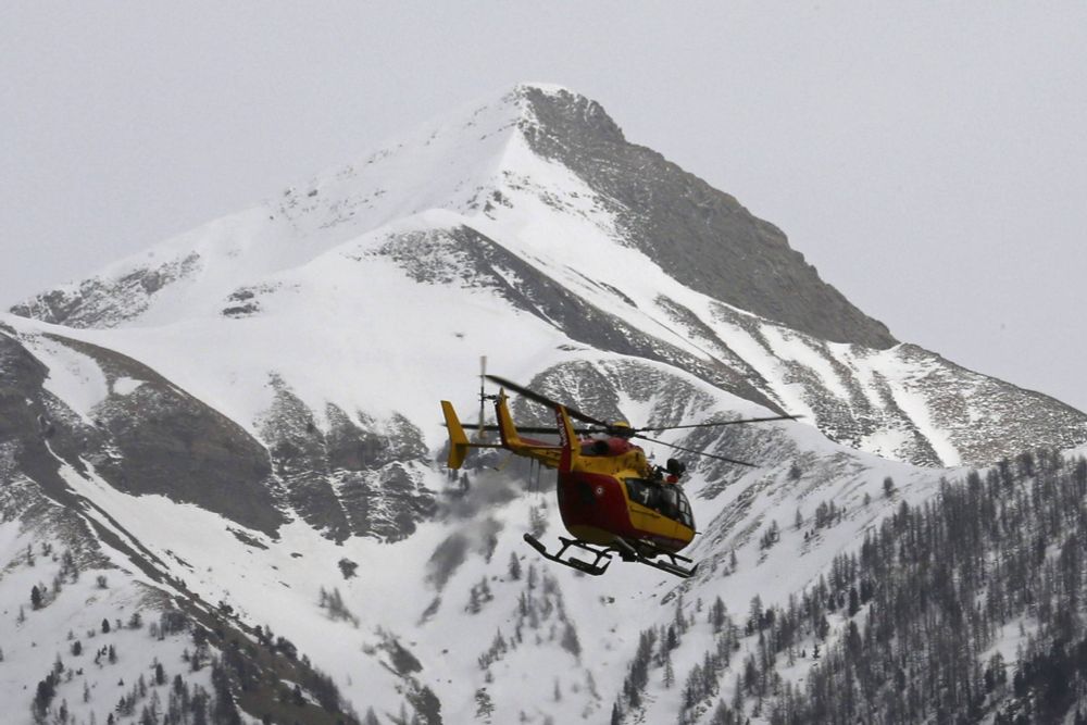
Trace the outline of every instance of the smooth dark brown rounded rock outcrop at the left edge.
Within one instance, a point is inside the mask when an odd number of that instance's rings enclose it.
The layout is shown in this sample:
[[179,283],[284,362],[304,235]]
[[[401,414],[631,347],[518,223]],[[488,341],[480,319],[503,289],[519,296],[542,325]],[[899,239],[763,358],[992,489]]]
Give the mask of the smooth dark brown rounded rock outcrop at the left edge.
[[[23,461],[27,472],[49,472],[39,483],[50,495],[59,495],[62,483],[55,476],[60,462],[45,450],[47,440],[73,468],[84,472],[90,463],[120,490],[159,493],[275,533],[284,517],[268,488],[271,466],[260,442],[130,358],[59,336],[49,339],[91,359],[111,389],[88,423],[43,388],[48,368],[0,330],[0,379],[8,391],[0,395],[0,440],[20,442],[29,457]],[[124,388],[127,384],[135,388]]]

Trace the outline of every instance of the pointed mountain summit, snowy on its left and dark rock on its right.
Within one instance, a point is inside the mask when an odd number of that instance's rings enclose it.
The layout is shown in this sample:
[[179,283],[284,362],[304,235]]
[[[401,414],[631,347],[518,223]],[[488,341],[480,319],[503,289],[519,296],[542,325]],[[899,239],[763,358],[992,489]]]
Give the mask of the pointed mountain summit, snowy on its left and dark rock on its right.
[[628,142],[598,102],[541,83],[463,105],[359,162],[13,311],[75,326],[217,314],[238,288],[430,209],[484,226],[504,221],[522,240],[516,229],[532,227],[526,248],[534,251],[638,250],[697,292],[824,340],[871,348],[896,341],[820,279],[779,229]]

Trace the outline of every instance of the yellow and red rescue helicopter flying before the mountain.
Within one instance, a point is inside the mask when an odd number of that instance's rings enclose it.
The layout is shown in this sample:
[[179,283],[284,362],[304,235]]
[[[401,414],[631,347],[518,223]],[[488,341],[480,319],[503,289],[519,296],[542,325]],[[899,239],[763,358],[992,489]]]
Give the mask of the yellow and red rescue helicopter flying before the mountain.
[[[525,533],[525,541],[544,558],[574,570],[599,576],[614,555],[687,578],[698,565],[679,553],[695,538],[695,517],[679,479],[686,465],[669,459],[665,466],[653,465],[641,447],[632,439],[646,440],[669,448],[705,458],[726,461],[736,465],[754,467],[746,461],[697,451],[675,443],[642,435],[645,430],[675,430],[705,428],[767,421],[795,421],[799,415],[774,415],[716,423],[688,425],[633,427],[623,421],[608,423],[554,401],[535,390],[496,375],[482,374],[501,386],[498,395],[486,395],[480,383],[480,418],[478,436],[486,430],[499,433],[498,443],[470,441],[448,400],[441,410],[449,432],[450,468],[458,470],[473,448],[500,448],[515,455],[539,462],[558,473],[555,491],[562,523],[573,538],[560,536],[561,546],[551,553],[535,536]],[[541,403],[554,414],[554,427],[532,426],[517,428],[510,414],[505,390]],[[490,400],[495,405],[497,425],[484,425],[483,405]],[[575,427],[573,421],[588,424]],[[558,434],[558,442],[525,438],[522,434]],[[577,550],[591,555],[591,561],[571,554]]]

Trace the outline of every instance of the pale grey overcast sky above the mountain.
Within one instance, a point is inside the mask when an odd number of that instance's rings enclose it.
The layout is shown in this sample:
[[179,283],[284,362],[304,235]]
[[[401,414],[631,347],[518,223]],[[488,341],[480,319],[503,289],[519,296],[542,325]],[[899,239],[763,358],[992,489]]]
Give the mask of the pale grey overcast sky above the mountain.
[[0,307],[542,80],[899,339],[1087,410],[1085,2],[4,0],[0,78]]

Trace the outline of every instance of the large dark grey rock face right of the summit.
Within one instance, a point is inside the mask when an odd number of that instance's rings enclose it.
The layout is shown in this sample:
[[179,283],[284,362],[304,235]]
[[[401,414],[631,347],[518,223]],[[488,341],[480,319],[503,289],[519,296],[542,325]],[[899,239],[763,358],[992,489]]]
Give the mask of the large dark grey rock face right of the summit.
[[887,327],[820,279],[774,225],[660,153],[627,142],[584,96],[523,87],[525,137],[614,201],[624,236],[691,289],[837,342],[887,348]]

